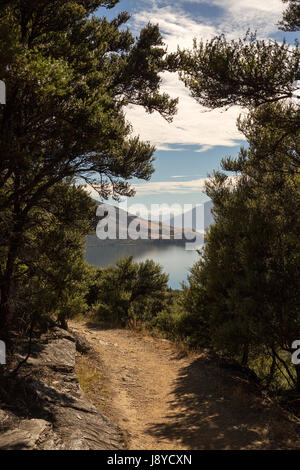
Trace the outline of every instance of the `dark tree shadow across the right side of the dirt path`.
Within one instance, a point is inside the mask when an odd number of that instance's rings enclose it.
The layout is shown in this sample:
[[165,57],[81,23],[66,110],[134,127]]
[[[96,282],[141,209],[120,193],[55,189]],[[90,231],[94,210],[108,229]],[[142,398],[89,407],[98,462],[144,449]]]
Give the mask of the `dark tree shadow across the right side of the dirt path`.
[[180,369],[172,394],[170,413],[148,428],[153,437],[190,450],[288,446],[290,423],[241,371],[200,357]]

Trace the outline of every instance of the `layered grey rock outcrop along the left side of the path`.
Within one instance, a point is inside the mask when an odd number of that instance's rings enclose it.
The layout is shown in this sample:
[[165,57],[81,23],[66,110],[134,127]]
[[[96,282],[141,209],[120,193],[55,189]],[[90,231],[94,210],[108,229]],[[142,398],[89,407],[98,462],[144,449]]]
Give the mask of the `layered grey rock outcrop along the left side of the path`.
[[88,401],[81,389],[74,371],[75,356],[76,339],[59,328],[35,345],[25,366],[26,375],[31,375],[26,393],[31,396],[32,419],[20,419],[2,432],[0,449],[124,448],[121,430]]

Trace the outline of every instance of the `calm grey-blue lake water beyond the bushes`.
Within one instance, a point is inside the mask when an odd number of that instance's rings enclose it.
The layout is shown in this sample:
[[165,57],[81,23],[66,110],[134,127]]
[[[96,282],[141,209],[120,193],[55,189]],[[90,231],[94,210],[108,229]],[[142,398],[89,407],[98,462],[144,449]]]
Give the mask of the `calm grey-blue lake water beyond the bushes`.
[[114,264],[118,259],[132,255],[134,261],[152,259],[159,263],[169,275],[169,286],[180,289],[181,282],[187,280],[189,269],[199,259],[197,251],[187,251],[184,246],[153,246],[143,244],[120,244],[87,246],[86,260],[89,264],[102,268]]

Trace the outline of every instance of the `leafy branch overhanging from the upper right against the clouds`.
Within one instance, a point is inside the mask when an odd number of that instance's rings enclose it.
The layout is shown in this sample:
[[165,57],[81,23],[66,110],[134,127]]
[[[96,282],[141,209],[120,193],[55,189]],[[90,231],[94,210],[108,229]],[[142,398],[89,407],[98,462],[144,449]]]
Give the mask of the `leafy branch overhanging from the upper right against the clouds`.
[[196,41],[191,51],[169,58],[203,106],[259,106],[290,98],[298,88],[299,48],[253,36],[229,41],[224,35]]

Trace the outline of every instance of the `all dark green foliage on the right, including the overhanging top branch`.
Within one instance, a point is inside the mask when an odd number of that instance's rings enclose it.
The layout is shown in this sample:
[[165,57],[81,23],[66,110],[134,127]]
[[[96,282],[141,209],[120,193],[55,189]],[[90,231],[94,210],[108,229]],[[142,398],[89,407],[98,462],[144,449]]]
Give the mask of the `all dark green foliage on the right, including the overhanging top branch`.
[[[288,3],[282,25],[297,30],[299,2]],[[280,375],[284,387],[298,390],[291,346],[300,337],[299,58],[297,44],[249,34],[195,41],[192,51],[169,58],[200,104],[249,110],[238,121],[248,147],[235,160],[224,158],[226,173],[215,172],[207,184],[215,223],[184,308],[198,317],[203,344],[260,371],[267,386]]]

